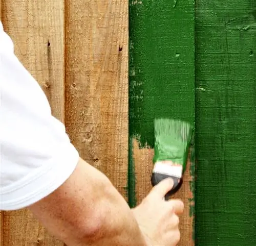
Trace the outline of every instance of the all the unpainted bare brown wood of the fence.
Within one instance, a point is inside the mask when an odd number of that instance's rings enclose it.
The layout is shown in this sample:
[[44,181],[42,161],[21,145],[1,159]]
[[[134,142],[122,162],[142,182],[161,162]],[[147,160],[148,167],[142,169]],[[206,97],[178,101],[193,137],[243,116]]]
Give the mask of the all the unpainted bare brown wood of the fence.
[[[127,202],[130,192],[139,203],[151,189],[153,152],[134,143],[133,186],[128,181],[128,12],[127,0],[2,0],[1,5],[17,57],[44,89],[81,157],[103,171]],[[178,195],[185,201],[188,180],[189,173]],[[193,219],[186,205],[181,245],[192,245]],[[63,245],[26,209],[4,212],[2,220],[4,246]]]

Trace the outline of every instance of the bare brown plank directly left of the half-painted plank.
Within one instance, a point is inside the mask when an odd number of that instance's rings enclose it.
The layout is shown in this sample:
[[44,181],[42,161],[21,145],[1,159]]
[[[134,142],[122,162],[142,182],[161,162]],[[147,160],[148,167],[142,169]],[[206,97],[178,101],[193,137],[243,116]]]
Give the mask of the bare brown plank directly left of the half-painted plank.
[[127,0],[66,4],[67,131],[81,157],[126,196]]

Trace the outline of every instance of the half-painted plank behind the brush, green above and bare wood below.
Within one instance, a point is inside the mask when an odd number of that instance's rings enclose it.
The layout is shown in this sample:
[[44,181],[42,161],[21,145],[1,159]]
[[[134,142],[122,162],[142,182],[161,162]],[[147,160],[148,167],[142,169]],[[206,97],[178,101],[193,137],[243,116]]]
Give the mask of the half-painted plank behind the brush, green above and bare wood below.
[[[129,203],[151,190],[155,117],[195,121],[194,0],[130,0]],[[194,245],[194,150],[176,197],[181,242]]]

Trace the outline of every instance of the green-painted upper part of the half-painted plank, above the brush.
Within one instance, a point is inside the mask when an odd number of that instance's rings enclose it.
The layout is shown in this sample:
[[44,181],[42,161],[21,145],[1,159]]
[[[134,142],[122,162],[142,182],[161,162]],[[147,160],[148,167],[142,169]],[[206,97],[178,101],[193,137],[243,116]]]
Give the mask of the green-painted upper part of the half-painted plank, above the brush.
[[153,119],[194,122],[194,0],[130,0],[130,135],[153,146]]

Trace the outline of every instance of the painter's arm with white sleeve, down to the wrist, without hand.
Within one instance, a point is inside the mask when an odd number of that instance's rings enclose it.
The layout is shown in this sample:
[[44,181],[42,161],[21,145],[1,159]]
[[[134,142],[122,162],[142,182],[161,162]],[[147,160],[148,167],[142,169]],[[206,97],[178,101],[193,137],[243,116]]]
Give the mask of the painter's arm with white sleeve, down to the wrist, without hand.
[[124,199],[79,159],[0,22],[0,210],[28,207],[70,246],[144,245]]

